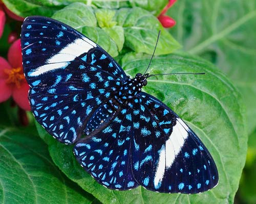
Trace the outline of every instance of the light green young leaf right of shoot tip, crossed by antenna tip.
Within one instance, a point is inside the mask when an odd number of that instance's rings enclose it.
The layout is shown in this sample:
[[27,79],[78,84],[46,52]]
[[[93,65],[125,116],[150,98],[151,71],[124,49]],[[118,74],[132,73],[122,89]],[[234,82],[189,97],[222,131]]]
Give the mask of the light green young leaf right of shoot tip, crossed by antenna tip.
[[124,28],[125,46],[136,53],[153,53],[158,32],[161,35],[156,55],[169,54],[180,48],[179,43],[163,29],[159,20],[150,12],[141,8],[123,8],[116,13],[118,25]]

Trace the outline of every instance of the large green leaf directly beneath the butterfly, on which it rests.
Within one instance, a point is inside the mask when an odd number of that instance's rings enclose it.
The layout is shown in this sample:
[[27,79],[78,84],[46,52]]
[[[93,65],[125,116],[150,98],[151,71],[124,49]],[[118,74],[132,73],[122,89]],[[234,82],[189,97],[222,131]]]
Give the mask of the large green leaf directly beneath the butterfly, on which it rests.
[[[130,54],[121,62],[126,72],[134,76],[145,70],[150,57]],[[72,181],[103,203],[232,203],[247,149],[240,94],[219,69],[189,55],[157,56],[149,71],[206,73],[150,78],[144,90],[172,108],[202,139],[219,170],[220,180],[216,188],[196,195],[161,194],[142,187],[131,191],[106,189],[79,166],[72,155],[72,145],[57,142],[39,128],[40,135],[49,144],[53,161]]]

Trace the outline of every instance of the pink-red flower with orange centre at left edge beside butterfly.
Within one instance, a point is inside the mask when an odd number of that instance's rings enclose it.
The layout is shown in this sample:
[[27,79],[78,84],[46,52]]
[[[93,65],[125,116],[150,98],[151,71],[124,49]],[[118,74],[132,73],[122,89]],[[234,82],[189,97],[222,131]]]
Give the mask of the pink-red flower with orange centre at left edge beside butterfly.
[[8,61],[0,57],[0,103],[12,96],[20,108],[30,110],[28,90],[29,85],[23,73],[22,48],[18,39],[8,50]]

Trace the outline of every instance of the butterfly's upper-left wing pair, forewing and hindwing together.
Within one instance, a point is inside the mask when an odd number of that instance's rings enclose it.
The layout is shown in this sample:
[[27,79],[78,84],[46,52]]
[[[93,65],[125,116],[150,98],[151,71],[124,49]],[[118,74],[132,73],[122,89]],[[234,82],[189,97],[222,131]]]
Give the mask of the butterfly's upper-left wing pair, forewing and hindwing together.
[[127,77],[100,46],[51,18],[30,16],[21,33],[23,68],[36,120],[74,143],[98,106]]

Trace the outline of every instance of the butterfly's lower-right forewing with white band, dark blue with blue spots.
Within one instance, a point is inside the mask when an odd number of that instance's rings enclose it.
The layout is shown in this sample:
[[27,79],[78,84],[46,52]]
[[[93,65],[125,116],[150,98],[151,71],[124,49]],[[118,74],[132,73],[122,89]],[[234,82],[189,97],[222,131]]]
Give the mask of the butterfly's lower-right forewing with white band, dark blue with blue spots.
[[218,184],[214,160],[196,134],[157,98],[141,92],[134,104],[133,175],[165,193],[199,193]]

